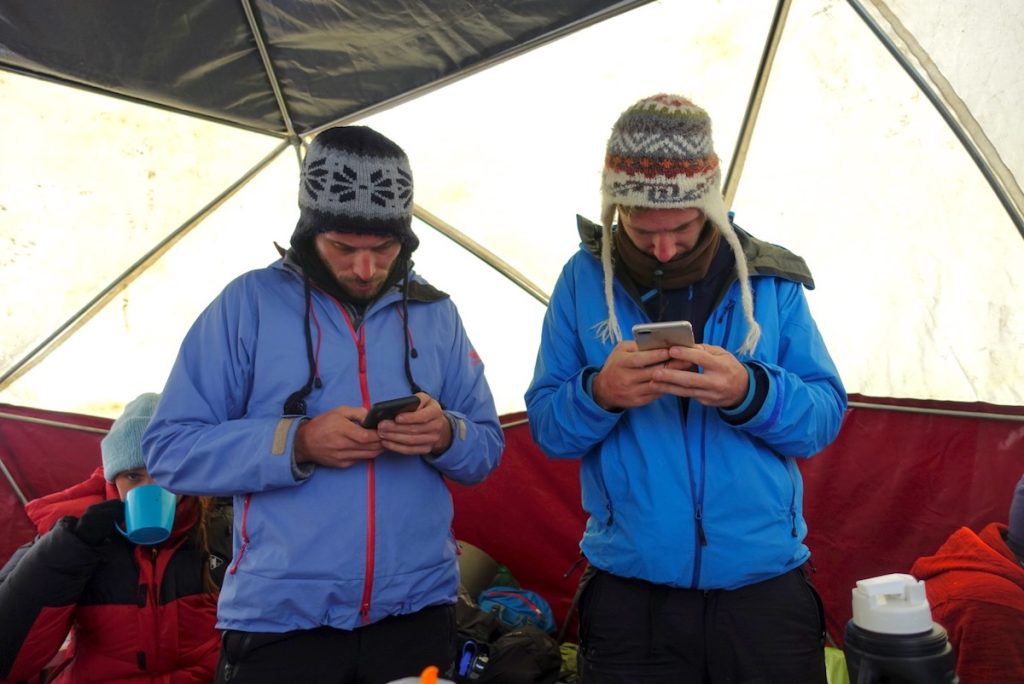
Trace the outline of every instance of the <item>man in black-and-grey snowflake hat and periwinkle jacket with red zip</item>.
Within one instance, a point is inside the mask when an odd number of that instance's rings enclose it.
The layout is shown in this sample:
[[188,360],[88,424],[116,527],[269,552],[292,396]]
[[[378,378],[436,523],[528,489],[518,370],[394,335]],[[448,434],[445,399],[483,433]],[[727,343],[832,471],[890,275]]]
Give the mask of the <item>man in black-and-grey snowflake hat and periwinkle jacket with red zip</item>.
[[[453,661],[444,480],[483,479],[504,437],[455,305],[413,270],[412,220],[402,149],[324,131],[291,249],[182,343],[143,446],[157,482],[234,497],[218,681],[385,682]],[[365,423],[403,395],[412,411]]]

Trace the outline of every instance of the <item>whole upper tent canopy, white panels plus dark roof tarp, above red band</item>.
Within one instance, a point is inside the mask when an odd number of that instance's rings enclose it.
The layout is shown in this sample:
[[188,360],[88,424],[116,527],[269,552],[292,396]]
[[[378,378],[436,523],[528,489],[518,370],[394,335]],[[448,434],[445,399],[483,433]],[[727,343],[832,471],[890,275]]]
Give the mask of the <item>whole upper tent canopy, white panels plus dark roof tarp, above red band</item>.
[[1024,6],[940,5],[3,3],[0,400],[115,417],[159,390],[202,308],[287,243],[289,146],[358,121],[410,154],[421,217],[462,236],[418,222],[418,270],[521,411],[608,127],[677,91],[712,114],[737,222],[809,263],[849,390],[1021,405]]

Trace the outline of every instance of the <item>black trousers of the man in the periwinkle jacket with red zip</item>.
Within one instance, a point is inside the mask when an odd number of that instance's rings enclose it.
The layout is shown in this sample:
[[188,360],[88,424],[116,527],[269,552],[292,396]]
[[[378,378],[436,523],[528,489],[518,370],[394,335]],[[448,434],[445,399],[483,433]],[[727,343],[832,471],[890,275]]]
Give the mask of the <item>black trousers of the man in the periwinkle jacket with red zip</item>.
[[385,684],[418,677],[427,666],[443,675],[455,658],[455,606],[430,606],[355,630],[237,632],[221,638],[218,684]]

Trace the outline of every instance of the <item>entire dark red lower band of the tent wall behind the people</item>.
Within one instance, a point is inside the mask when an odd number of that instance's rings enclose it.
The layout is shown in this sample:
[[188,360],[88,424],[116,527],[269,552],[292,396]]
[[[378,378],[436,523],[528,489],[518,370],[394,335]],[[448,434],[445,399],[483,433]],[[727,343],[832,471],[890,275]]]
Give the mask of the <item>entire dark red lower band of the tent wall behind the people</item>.
[[[800,464],[814,583],[828,633],[840,644],[857,580],[908,572],[961,526],[1006,522],[1024,472],[1024,409],[981,417],[977,410],[986,407],[904,401],[863,408],[878,402],[857,395],[851,402],[839,439]],[[26,417],[100,432],[110,421],[0,404],[0,457],[30,498],[80,481],[99,464],[101,434]],[[450,485],[453,528],[544,596],[562,625],[584,568],[579,463],[545,457],[524,419],[503,417],[505,454],[486,480]],[[0,510],[15,521],[0,538],[0,559],[6,559],[34,530],[9,488],[0,487]]]

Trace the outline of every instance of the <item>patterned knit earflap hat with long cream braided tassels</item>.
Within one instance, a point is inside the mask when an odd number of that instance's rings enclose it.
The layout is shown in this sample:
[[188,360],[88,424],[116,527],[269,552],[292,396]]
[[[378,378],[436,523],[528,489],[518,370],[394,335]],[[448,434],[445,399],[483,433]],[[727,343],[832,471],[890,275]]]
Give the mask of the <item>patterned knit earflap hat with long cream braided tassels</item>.
[[623,112],[611,129],[601,176],[601,264],[608,318],[602,339],[623,339],[612,299],[611,225],[617,207],[701,210],[722,233],[736,258],[748,332],[737,350],[757,346],[761,327],[754,318],[746,259],[722,199],[722,171],[712,141],[711,117],[680,95],[645,97]]

